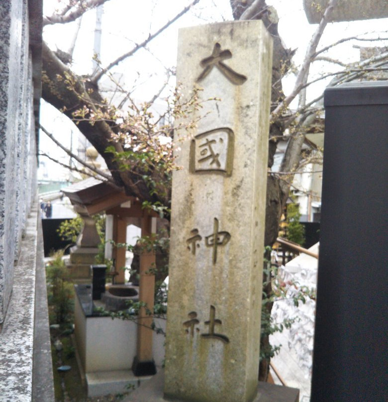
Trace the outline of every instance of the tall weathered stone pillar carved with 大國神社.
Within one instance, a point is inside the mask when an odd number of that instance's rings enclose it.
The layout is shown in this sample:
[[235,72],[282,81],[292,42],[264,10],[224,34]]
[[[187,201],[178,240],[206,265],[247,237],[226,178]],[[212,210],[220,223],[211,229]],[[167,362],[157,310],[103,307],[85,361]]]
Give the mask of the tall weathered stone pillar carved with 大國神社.
[[[272,40],[261,21],[184,28],[177,82],[203,88],[175,132],[164,392],[248,402],[257,392]],[[181,121],[183,124],[185,121]]]

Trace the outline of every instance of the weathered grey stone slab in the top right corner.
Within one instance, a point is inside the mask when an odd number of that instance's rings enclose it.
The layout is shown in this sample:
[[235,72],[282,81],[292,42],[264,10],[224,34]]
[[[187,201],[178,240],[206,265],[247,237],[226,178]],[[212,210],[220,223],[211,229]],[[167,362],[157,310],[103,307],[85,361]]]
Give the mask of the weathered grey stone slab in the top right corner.
[[[329,0],[303,0],[304,11],[310,24],[322,19]],[[338,0],[330,21],[353,21],[388,17],[387,0]]]

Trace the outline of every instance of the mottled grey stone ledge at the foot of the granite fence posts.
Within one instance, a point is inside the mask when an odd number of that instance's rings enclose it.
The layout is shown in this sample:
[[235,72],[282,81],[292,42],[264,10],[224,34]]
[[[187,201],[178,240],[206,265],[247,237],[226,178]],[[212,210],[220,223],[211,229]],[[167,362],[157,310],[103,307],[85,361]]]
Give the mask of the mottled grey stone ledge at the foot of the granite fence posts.
[[27,219],[26,236],[14,268],[12,297],[0,333],[0,401],[54,401],[45,270],[39,265],[43,264],[43,246],[37,244],[42,241],[42,229],[37,227],[37,219],[35,203]]

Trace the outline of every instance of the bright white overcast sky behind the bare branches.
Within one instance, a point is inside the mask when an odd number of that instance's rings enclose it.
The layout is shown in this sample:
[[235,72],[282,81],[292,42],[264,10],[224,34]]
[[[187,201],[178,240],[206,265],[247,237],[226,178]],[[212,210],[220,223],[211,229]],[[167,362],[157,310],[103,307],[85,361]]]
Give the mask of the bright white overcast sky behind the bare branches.
[[[114,60],[121,54],[131,50],[136,43],[143,41],[149,33],[153,33],[173,18],[189,0],[110,0],[103,6],[102,38],[100,60],[103,66]],[[134,5],[135,4],[135,5]],[[285,45],[291,49],[297,49],[294,63],[297,66],[303,60],[308,41],[316,29],[316,25],[307,22],[303,11],[302,0],[267,0],[267,4],[273,5],[279,15],[279,33]],[[58,6],[58,0],[44,0],[44,14],[50,15]],[[78,74],[90,74],[92,72],[93,41],[95,27],[95,11],[89,11],[83,16],[80,34],[78,36],[73,70]],[[229,0],[200,0],[193,9],[172,24],[159,37],[152,40],[147,49],[139,50],[134,56],[120,63],[114,70],[114,77],[127,88],[134,88],[133,96],[142,101],[150,100],[155,92],[163,85],[166,75],[165,66],[175,66],[177,58],[178,29],[184,26],[193,26],[203,23],[227,21],[232,19]],[[342,37],[350,37],[364,32],[386,31],[380,37],[387,38],[388,18],[331,23],[325,30],[320,46],[326,46]],[[44,40],[56,50],[67,50],[70,39],[75,30],[75,23],[66,25],[47,26],[44,29]],[[370,36],[377,37],[378,33]],[[372,42],[372,45],[388,46],[388,40]],[[368,46],[368,42],[346,42],[333,49],[328,55],[332,58],[341,59],[345,62],[359,60],[359,49],[354,44]],[[113,70],[112,70],[113,71]],[[323,72],[338,71],[338,66],[329,63],[316,63],[311,69],[313,78]],[[321,94],[327,85],[326,81],[319,82],[308,90],[307,98],[314,99]],[[294,76],[290,74],[283,80],[286,94],[291,91]],[[106,81],[100,81],[106,87]],[[105,84],[105,85],[104,85]],[[171,87],[175,85],[174,79],[170,80]],[[167,95],[167,90],[162,94]],[[106,93],[109,99],[110,94]],[[75,127],[60,122],[53,112],[42,107],[42,124],[51,132],[58,133],[64,140],[65,146],[70,147],[70,135]],[[76,143],[77,134],[74,134],[73,144]],[[45,135],[41,134],[41,148],[50,147],[50,153],[54,157],[64,155],[58,149],[53,150],[51,140],[46,141]],[[50,144],[50,145],[49,145]],[[68,159],[64,156],[64,160]],[[49,169],[50,170],[50,169]]]

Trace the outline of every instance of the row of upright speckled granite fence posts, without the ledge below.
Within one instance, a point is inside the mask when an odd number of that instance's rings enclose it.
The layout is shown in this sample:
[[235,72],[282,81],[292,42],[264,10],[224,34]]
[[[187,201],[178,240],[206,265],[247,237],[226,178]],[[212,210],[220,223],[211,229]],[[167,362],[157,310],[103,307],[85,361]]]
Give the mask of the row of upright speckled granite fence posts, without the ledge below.
[[27,0],[0,2],[0,324],[35,197],[36,151]]

